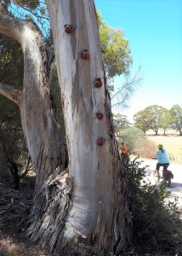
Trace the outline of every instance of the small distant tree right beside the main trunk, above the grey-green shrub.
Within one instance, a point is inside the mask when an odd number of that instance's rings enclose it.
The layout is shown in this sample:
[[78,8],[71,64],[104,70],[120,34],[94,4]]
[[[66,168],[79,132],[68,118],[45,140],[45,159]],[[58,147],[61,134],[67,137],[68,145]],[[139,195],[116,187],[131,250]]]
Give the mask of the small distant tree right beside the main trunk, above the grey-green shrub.
[[131,126],[131,123],[128,121],[127,116],[122,113],[113,114],[113,122],[117,137],[121,136],[121,132],[123,129]]

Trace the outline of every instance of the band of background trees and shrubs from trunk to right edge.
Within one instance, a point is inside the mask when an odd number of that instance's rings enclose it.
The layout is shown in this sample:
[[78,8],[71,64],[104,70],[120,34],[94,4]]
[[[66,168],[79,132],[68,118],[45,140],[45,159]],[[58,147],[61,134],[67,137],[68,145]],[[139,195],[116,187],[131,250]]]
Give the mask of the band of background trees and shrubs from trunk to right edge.
[[158,135],[159,130],[178,131],[182,135],[182,108],[173,105],[171,109],[162,106],[151,105],[134,114],[134,125],[132,125],[126,115],[114,114],[114,125],[118,140],[118,147],[121,143],[126,143],[131,154],[141,157],[151,158],[156,152],[156,143],[149,140],[145,135],[146,131],[152,130]]

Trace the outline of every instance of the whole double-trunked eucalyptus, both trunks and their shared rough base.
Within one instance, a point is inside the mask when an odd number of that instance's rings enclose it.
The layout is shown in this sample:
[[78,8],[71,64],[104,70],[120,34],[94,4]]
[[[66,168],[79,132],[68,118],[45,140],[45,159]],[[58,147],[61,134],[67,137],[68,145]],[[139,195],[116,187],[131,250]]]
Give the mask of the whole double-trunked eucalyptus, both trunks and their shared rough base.
[[[27,235],[58,255],[94,255],[95,248],[117,255],[130,241],[131,215],[94,2],[46,3],[65,116],[70,160],[66,169],[51,107],[43,38],[36,26],[0,15],[0,32],[19,41],[25,56],[24,90],[19,91],[17,104],[37,172]],[[0,84],[0,92],[14,100],[14,89],[10,93],[6,84],[2,88],[3,92]]]

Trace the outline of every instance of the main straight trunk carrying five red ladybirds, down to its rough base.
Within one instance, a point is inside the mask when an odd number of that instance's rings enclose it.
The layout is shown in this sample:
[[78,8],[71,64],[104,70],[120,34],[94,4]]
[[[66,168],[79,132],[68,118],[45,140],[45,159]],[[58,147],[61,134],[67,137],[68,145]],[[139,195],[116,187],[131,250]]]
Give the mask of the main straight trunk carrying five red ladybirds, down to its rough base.
[[[121,252],[129,239],[126,183],[112,124],[93,0],[47,0],[73,183],[64,241]],[[66,32],[66,26],[72,26]],[[88,58],[83,53],[87,50]],[[84,57],[84,58],[83,58]],[[102,86],[95,86],[100,78]],[[103,119],[97,119],[97,113]],[[97,139],[103,138],[103,145]],[[125,218],[128,216],[128,219]],[[70,243],[71,244],[71,243]]]

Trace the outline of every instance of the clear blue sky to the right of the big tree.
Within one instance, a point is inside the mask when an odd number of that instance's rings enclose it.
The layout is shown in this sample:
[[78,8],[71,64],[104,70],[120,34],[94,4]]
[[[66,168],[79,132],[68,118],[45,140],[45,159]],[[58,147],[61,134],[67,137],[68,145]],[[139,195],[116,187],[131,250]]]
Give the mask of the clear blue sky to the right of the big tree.
[[[129,40],[134,64],[141,67],[142,82],[129,108],[113,109],[128,115],[152,104],[170,109],[182,105],[182,0],[94,0],[108,26],[122,27]],[[115,79],[115,86],[122,78]]]

